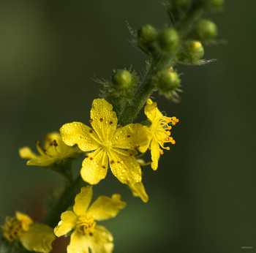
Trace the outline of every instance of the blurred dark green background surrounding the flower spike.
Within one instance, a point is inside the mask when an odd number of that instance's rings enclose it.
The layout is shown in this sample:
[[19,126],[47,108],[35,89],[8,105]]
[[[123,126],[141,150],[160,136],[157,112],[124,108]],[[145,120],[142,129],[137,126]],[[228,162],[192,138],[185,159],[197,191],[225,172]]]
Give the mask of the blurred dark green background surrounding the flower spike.
[[[227,44],[206,48],[214,63],[177,67],[181,103],[153,94],[180,122],[157,172],[143,168],[148,203],[111,173],[94,187],[94,197],[120,192],[128,203],[104,222],[115,252],[255,252],[255,8],[253,0],[227,0],[212,15]],[[87,123],[102,88],[94,76],[108,79],[131,64],[143,70],[147,58],[129,43],[126,21],[161,28],[167,15],[157,0],[0,2],[1,220],[16,210],[40,219],[45,198],[64,184],[27,167],[18,148],[35,149],[64,123]]]

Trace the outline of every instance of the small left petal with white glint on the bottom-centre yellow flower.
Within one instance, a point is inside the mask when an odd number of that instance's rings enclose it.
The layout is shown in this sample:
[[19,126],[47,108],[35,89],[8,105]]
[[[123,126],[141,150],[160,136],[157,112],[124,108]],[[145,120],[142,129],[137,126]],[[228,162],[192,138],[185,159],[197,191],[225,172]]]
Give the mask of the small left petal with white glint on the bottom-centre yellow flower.
[[61,221],[53,230],[55,235],[60,237],[69,233],[75,227],[76,220],[77,216],[72,211],[62,213]]

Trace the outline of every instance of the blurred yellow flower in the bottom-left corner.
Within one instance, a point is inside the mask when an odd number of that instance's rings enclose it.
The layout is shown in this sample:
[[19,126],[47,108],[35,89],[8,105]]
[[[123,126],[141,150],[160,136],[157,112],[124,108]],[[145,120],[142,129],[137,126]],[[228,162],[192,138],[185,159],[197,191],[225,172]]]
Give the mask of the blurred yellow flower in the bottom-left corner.
[[51,227],[34,224],[29,216],[18,211],[15,217],[6,218],[1,229],[8,241],[20,241],[25,249],[34,252],[50,252],[56,238]]

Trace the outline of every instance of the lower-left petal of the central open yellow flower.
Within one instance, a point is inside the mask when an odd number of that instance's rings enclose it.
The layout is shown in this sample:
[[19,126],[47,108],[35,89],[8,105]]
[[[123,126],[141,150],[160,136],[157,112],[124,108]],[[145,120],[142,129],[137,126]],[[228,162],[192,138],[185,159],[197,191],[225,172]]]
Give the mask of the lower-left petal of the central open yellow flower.
[[98,184],[99,181],[106,177],[107,172],[108,156],[101,148],[88,154],[88,157],[83,160],[80,170],[83,180],[89,184]]

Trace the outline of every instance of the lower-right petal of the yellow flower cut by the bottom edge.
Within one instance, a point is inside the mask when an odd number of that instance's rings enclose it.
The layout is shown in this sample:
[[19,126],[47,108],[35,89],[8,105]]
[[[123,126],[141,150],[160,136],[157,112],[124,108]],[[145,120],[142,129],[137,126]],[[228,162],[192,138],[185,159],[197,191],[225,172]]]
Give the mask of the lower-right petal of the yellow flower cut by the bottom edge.
[[113,252],[113,236],[102,226],[95,226],[94,235],[88,239],[91,253],[111,253]]

